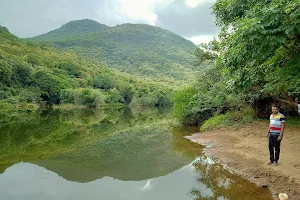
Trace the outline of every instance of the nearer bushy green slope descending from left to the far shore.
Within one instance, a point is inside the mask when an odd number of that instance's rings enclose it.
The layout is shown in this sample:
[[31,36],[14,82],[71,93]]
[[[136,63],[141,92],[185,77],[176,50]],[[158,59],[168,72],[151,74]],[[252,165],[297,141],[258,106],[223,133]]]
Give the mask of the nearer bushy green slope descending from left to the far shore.
[[0,26],[2,103],[165,106],[170,103],[170,91],[160,84],[95,65],[73,53],[32,44]]

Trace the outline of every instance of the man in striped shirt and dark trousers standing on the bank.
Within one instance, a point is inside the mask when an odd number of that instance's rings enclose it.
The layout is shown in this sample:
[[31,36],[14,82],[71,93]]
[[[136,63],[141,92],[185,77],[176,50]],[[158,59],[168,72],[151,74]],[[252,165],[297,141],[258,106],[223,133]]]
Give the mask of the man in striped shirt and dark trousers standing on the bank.
[[[279,112],[277,104],[272,104],[272,114],[270,116],[270,127],[268,130],[269,137],[269,151],[270,162],[268,165],[278,166],[279,154],[280,154],[280,142],[283,138],[283,132],[285,127],[285,117]],[[274,157],[275,149],[275,157]]]

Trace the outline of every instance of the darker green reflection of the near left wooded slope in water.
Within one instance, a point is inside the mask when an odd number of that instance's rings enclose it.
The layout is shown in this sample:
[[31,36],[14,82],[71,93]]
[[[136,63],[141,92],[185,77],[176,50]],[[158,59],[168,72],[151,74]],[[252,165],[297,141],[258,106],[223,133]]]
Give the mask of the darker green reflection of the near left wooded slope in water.
[[0,172],[20,161],[74,151],[107,135],[159,120],[139,112],[136,118],[130,110],[122,109],[0,112]]

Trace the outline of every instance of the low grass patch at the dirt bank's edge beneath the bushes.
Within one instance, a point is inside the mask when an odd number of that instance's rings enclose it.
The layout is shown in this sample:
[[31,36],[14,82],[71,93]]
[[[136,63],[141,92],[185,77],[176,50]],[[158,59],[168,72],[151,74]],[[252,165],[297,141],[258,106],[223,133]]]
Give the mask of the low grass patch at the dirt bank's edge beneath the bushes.
[[226,114],[217,115],[206,120],[200,127],[200,131],[214,130],[222,127],[241,127],[243,124],[253,121],[255,111],[251,108],[228,111]]

